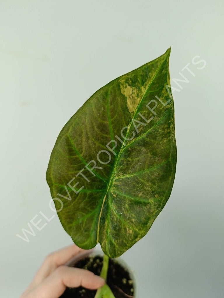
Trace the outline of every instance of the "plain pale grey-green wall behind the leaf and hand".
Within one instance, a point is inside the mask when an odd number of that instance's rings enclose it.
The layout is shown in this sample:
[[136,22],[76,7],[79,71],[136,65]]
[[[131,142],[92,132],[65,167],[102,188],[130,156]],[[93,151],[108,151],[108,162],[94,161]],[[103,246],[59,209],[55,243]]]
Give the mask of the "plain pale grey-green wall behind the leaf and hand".
[[29,243],[16,237],[53,214],[45,172],[59,131],[96,90],[170,46],[171,78],[188,63],[195,74],[183,71],[189,83],[173,93],[176,179],[122,257],[140,298],[223,297],[223,14],[222,0],[0,1],[1,297],[19,297],[43,258],[72,243],[57,216]]

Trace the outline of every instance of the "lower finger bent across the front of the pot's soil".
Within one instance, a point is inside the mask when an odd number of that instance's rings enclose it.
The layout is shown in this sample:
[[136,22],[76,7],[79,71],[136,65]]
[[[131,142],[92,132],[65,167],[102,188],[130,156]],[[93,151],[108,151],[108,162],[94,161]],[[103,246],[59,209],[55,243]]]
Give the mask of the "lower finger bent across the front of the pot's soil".
[[[32,298],[58,298],[66,287],[76,288],[83,286],[88,289],[97,289],[105,284],[105,280],[93,272],[85,269],[67,266],[58,267],[40,285],[32,291]],[[29,297],[29,295],[27,296]]]

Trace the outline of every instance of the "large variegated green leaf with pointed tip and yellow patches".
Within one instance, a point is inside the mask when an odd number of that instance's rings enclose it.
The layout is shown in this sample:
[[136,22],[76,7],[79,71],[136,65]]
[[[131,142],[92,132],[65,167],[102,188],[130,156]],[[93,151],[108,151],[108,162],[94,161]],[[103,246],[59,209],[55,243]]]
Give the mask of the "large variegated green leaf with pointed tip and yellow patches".
[[81,248],[99,242],[118,257],[148,232],[170,196],[177,151],[169,55],[96,91],[57,138],[47,183],[61,200],[54,202],[62,226]]

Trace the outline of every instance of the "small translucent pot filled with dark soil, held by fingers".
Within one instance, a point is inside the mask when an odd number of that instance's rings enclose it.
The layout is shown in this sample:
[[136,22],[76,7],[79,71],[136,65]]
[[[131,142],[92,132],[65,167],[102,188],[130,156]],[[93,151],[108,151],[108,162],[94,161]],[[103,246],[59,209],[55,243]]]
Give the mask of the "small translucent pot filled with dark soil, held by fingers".
[[[71,259],[66,265],[88,269],[99,275],[102,268],[102,259],[102,252],[84,252]],[[133,271],[121,258],[109,260],[107,284],[113,291],[115,298],[137,298],[136,278]],[[83,287],[67,288],[61,298],[94,298],[95,294],[96,291]]]

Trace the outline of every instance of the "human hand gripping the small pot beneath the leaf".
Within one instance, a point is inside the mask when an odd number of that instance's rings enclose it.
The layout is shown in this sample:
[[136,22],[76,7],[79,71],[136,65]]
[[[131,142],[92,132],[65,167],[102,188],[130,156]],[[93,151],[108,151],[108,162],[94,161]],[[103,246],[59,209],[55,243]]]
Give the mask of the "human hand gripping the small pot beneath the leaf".
[[85,269],[64,265],[81,252],[86,252],[86,250],[71,245],[49,254],[20,298],[59,298],[66,287],[82,286],[91,290],[102,287],[105,284],[102,277]]

